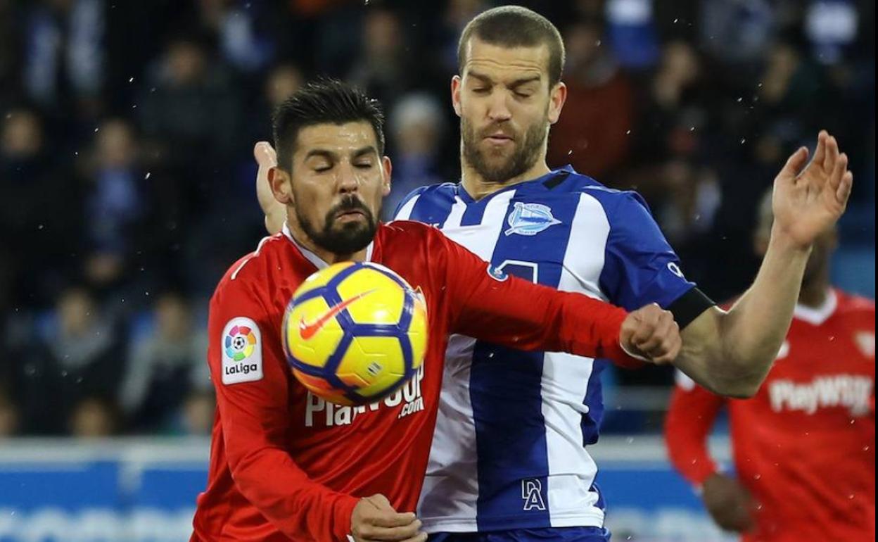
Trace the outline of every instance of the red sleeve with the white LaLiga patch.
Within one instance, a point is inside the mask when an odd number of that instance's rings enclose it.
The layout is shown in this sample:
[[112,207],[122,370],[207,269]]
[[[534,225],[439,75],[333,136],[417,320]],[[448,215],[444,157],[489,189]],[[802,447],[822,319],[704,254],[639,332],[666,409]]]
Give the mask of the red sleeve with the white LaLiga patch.
[[[208,360],[232,478],[248,502],[288,537],[344,540],[358,499],[310,480],[286,451],[294,430],[290,377],[267,314],[241,279],[221,285],[211,300]],[[243,360],[230,358],[227,337],[249,342],[251,334],[255,348],[248,352],[245,346]]]

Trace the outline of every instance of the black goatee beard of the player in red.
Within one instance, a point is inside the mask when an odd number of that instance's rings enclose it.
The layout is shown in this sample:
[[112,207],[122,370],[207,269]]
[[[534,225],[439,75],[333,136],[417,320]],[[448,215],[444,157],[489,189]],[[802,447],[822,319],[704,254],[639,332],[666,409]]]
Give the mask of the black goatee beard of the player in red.
[[[296,199],[301,201],[301,199]],[[302,231],[321,249],[326,249],[333,254],[354,254],[369,246],[372,239],[375,238],[375,232],[378,231],[378,222],[375,215],[365,206],[363,202],[356,196],[345,196],[338,205],[329,209],[323,220],[323,227],[317,228],[299,209],[295,206],[296,218],[299,220],[299,226]],[[344,224],[336,224],[336,218],[340,213],[349,211],[359,211],[363,213],[366,223],[360,220],[346,222]]]

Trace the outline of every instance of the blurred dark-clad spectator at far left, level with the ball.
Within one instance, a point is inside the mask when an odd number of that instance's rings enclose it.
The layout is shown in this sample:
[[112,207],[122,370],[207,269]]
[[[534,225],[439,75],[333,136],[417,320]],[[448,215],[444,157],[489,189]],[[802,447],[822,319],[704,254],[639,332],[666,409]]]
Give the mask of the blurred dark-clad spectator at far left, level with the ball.
[[62,293],[54,314],[43,320],[39,336],[21,353],[14,389],[26,429],[57,434],[83,397],[117,393],[122,337],[78,287]]

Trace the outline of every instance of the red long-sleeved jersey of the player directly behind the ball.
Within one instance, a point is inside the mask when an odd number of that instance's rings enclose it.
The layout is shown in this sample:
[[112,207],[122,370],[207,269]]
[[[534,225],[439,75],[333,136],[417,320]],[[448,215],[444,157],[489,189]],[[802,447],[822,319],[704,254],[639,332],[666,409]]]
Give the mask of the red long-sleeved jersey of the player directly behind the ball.
[[219,282],[207,352],[218,408],[193,540],[344,539],[358,499],[376,493],[397,510],[414,510],[451,333],[637,364],[619,345],[622,309],[506,277],[435,228],[381,225],[368,259],[421,288],[429,340],[414,379],[360,407],[327,403],[291,376],[280,337],[284,309],[326,264],[288,230],[263,239]]

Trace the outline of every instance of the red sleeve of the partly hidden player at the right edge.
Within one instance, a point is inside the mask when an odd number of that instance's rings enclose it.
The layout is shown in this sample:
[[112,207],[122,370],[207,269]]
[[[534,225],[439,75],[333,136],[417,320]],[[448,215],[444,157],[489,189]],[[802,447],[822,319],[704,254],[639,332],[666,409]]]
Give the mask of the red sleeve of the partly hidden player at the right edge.
[[679,375],[665,418],[665,440],[673,466],[687,481],[701,486],[716,464],[708,452],[708,435],[725,400]]

